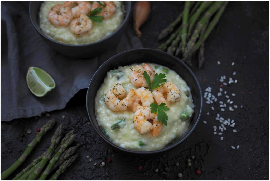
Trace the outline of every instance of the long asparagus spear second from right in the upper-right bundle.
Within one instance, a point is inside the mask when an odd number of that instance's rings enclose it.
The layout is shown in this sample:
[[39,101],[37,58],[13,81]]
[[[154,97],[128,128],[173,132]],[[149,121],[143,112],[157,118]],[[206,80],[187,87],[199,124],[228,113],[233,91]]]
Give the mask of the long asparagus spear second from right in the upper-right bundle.
[[205,12],[204,16],[201,18],[201,20],[198,22],[197,27],[195,28],[187,47],[185,48],[184,57],[187,57],[188,54],[190,54],[190,51],[193,49],[194,44],[196,43],[197,38],[199,37],[199,34],[202,30],[202,27],[209,19],[212,17],[212,15],[221,7],[222,1],[216,1],[213,5],[211,5],[210,8],[208,8],[207,12]]

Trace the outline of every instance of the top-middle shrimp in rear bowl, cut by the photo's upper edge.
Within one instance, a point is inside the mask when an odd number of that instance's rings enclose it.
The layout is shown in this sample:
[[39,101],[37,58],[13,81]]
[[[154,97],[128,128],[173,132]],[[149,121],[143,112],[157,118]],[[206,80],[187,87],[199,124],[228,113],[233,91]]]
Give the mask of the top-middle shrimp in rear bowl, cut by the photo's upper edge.
[[81,14],[89,14],[91,11],[91,4],[89,1],[66,1],[64,7],[72,7],[73,18],[79,17]]

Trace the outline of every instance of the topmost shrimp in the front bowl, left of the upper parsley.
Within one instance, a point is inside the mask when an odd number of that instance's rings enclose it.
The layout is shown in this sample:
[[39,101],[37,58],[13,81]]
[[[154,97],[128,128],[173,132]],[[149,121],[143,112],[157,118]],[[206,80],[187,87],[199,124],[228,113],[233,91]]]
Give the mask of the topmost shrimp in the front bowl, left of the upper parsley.
[[130,82],[134,86],[138,87],[148,87],[148,84],[143,76],[143,72],[146,71],[150,76],[151,83],[153,82],[155,71],[154,69],[147,63],[143,63],[143,67],[141,68],[139,65],[136,65],[130,72]]

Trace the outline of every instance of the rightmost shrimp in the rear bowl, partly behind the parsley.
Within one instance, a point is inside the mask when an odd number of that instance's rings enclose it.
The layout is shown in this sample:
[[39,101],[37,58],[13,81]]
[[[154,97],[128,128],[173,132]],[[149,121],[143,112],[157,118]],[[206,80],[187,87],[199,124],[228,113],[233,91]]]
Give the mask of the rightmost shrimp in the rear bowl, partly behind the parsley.
[[94,1],[92,4],[92,11],[96,8],[102,8],[102,11],[97,14],[97,16],[103,16],[103,19],[108,19],[112,17],[112,15],[115,13],[116,5],[113,1],[100,1],[100,5],[97,1]]

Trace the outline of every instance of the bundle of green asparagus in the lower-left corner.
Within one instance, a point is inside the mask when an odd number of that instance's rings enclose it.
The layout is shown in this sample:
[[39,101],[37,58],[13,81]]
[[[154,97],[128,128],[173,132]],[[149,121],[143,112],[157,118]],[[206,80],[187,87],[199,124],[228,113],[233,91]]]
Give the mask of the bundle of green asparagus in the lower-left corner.
[[[39,133],[36,135],[34,140],[28,145],[27,149],[23,152],[22,156],[14,164],[12,164],[11,167],[9,167],[1,174],[1,180],[6,179],[6,177],[8,177],[11,173],[13,173],[23,163],[23,161],[25,161],[26,157],[31,153],[33,147],[40,141],[41,137],[54,125],[55,120],[53,119],[50,120],[48,123],[46,123],[40,129]],[[50,147],[48,148],[48,150],[42,153],[37,159],[33,160],[31,164],[29,164],[25,169],[23,169],[19,174],[17,174],[12,180],[35,180],[38,176],[40,176],[40,173],[42,172],[43,168],[46,166],[49,160],[50,160],[49,164],[44,170],[44,172],[41,174],[39,180],[46,179],[48,174],[59,166],[61,172],[59,172],[58,169],[54,174],[55,178],[57,178],[61,173],[63,173],[66,167],[70,166],[71,163],[78,156],[77,154],[75,154],[74,156],[72,155],[75,153],[77,147],[79,146],[77,144],[76,146],[70,147],[66,150],[66,148],[75,139],[76,134],[73,134],[74,130],[72,130],[68,134],[66,134],[66,136],[62,139],[63,132],[64,132],[64,125],[61,124],[56,129],[51,139]],[[71,158],[72,161],[70,160]],[[65,163],[65,161],[68,161],[68,163]]]

